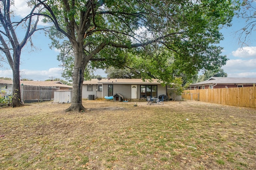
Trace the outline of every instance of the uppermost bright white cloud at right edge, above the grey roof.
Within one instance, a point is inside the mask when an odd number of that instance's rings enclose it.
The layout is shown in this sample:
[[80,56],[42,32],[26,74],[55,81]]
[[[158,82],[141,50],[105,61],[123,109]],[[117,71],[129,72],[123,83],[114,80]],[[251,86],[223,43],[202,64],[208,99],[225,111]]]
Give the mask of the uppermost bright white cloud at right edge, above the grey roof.
[[256,58],[256,47],[242,47],[232,51],[232,55],[241,58]]

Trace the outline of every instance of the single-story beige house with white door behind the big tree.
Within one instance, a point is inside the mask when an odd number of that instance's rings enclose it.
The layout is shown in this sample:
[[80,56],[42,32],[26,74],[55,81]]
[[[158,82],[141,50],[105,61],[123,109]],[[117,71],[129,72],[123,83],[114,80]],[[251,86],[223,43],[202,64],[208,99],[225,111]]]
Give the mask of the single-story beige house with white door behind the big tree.
[[[102,78],[98,80],[93,78],[83,82],[82,98],[88,99],[89,95],[94,98],[104,98],[105,96],[113,96],[120,94],[122,100],[145,99],[147,96],[158,98],[160,95],[169,95],[174,98],[170,86],[162,86],[158,79],[146,80],[142,79],[110,79]],[[176,100],[181,100],[181,96],[175,96]]]

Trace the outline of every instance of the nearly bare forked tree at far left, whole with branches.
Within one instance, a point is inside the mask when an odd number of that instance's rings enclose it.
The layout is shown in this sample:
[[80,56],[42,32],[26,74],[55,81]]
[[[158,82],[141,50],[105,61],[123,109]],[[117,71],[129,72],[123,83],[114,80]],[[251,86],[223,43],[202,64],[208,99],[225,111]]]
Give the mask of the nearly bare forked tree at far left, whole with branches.
[[[39,21],[39,16],[34,13],[40,12],[40,4],[33,4],[29,2],[32,7],[30,14],[24,18],[17,20],[10,9],[14,6],[12,0],[0,1],[0,51],[4,53],[7,58],[13,74],[13,92],[12,92],[12,107],[21,105],[20,101],[20,55],[22,48],[28,41],[31,41],[31,36],[37,29],[36,26]],[[35,16],[35,20],[33,20]],[[22,30],[22,31],[21,31]],[[22,32],[24,35],[22,38]],[[1,61],[1,59],[0,59]]]

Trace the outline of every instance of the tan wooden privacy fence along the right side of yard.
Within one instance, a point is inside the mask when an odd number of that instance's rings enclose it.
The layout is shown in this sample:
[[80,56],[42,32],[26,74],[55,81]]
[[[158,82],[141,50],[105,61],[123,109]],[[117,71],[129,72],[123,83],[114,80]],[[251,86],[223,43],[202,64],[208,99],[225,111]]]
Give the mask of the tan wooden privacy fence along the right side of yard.
[[256,108],[256,87],[184,90],[182,99]]

